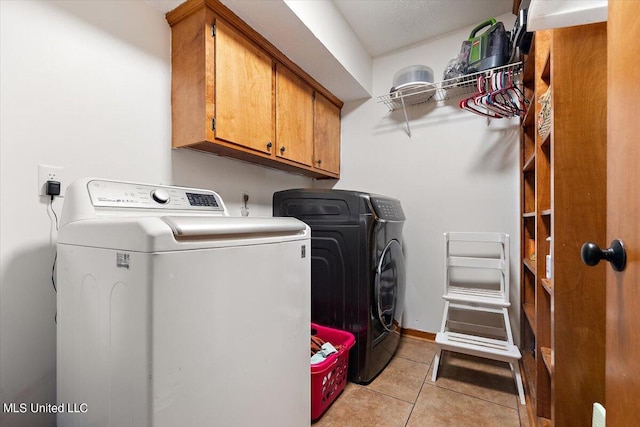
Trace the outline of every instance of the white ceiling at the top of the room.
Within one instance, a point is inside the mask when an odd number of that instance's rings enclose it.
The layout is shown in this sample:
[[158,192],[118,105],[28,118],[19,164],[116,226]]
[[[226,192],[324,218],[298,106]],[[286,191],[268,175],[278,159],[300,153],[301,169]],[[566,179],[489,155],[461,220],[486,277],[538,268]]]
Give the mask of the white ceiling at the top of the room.
[[[146,1],[163,13],[183,2]],[[513,5],[513,0],[323,1],[333,1],[372,57],[509,13]]]

